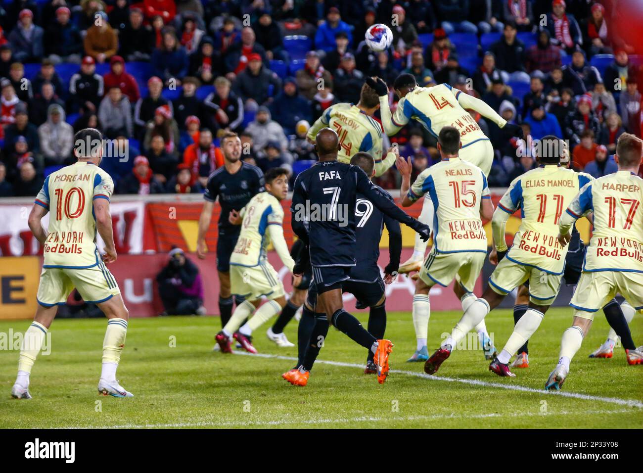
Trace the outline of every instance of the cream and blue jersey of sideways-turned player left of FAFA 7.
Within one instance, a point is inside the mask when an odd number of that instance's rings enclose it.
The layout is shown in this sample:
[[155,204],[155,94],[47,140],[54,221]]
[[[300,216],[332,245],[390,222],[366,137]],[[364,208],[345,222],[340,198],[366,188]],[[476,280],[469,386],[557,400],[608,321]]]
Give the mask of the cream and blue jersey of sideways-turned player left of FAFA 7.
[[284,209],[275,196],[260,192],[242,209],[242,223],[237,245],[230,256],[230,264],[257,266],[266,261],[270,243],[268,225],[283,225]]

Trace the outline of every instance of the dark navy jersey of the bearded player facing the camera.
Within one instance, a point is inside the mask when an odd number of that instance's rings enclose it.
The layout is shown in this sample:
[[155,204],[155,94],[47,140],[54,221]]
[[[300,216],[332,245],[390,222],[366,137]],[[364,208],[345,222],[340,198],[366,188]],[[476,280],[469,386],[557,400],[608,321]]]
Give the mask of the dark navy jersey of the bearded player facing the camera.
[[219,205],[221,205],[219,229],[240,230],[241,227],[232,225],[228,221],[230,211],[243,209],[250,199],[262,190],[264,190],[264,173],[257,166],[242,162],[239,171],[234,174],[230,174],[225,166],[212,172],[203,198],[214,202],[219,197]]

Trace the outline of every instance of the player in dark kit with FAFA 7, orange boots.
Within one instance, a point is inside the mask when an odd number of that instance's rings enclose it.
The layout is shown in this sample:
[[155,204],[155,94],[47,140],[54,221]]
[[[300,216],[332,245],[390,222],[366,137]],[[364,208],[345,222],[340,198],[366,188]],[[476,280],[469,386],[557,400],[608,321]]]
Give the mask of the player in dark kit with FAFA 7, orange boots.
[[[354,210],[357,193],[384,214],[421,232],[424,238],[428,238],[429,228],[381,194],[359,167],[338,162],[341,145],[334,130],[320,130],[315,140],[319,162],[297,176],[291,206],[293,231],[308,245],[312,280],[319,294],[317,302],[323,308],[323,313],[315,317],[310,338],[325,339],[329,324],[332,324],[373,351],[377,380],[383,383],[388,376],[388,355],[393,344],[390,340],[377,340],[368,333],[358,319],[343,309],[341,299],[342,283],[350,279],[350,270],[356,265]],[[297,270],[295,272],[298,274]],[[300,366],[299,372],[307,380],[309,369]]]

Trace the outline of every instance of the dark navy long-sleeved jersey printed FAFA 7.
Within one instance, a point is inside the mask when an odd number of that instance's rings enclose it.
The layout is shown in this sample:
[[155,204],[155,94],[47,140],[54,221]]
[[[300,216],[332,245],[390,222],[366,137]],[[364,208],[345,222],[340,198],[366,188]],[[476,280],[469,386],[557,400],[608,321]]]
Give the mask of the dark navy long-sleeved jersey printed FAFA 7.
[[[312,266],[355,266],[358,192],[391,218],[427,231],[426,225],[399,209],[359,167],[318,162],[297,176],[291,203],[293,231],[309,243]],[[374,237],[379,243],[379,237]]]

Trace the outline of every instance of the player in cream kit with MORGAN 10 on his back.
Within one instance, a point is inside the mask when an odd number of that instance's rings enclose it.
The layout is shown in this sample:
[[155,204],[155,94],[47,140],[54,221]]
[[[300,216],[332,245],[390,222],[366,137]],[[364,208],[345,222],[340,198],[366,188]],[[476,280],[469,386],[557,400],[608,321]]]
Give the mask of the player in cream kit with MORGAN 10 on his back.
[[[44,261],[38,286],[35,317],[24,334],[18,376],[11,395],[31,399],[29,375],[58,306],[76,288],[84,301],[94,302],[107,317],[103,340],[103,364],[98,393],[132,397],[116,380],[116,368],[125,346],[129,314],[118,285],[105,263],[116,261],[109,198],[114,183],[98,167],[103,156],[100,131],[86,128],[74,137],[78,161],[52,172],[44,181],[29,215],[29,228],[41,243]],[[47,230],[42,218],[50,212]],[[105,243],[99,255],[96,230]]]

